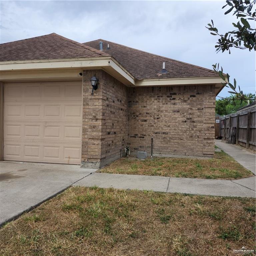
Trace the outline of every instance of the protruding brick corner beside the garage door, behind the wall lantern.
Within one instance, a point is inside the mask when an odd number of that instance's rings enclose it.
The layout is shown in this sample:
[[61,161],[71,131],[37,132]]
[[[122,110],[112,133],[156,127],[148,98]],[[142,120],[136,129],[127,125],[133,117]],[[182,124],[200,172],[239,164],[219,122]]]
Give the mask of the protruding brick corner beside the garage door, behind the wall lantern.
[[[91,95],[91,77],[99,79]],[[103,70],[83,71],[82,165],[102,167],[127,143],[128,88]]]

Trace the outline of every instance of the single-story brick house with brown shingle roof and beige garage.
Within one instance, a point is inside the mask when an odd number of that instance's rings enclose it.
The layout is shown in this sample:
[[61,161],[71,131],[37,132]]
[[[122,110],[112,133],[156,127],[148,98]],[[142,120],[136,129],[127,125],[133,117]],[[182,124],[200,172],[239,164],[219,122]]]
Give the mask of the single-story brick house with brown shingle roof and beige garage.
[[0,160],[99,168],[151,142],[153,156],[214,154],[212,70],[55,33],[0,52]]

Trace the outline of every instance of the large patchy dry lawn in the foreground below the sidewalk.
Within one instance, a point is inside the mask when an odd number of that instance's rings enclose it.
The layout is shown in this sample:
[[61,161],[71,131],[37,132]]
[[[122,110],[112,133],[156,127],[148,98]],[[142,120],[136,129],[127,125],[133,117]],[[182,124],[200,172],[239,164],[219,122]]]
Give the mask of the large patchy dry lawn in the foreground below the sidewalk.
[[0,229],[1,256],[233,256],[243,246],[255,249],[253,198],[72,187]]

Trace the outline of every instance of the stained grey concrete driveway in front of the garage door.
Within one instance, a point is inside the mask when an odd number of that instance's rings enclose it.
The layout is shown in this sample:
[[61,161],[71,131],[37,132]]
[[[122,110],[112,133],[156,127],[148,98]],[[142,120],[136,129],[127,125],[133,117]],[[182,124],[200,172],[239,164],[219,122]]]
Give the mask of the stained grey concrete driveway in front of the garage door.
[[79,165],[0,161],[0,226],[95,171]]

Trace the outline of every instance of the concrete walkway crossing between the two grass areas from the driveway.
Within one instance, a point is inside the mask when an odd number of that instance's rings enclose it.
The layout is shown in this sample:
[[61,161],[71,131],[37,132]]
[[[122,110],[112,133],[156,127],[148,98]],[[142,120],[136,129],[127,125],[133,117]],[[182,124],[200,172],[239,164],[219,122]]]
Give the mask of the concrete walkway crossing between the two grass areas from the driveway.
[[239,184],[239,180],[207,180],[93,173],[77,181],[73,186],[99,186],[101,188],[153,190],[158,192],[177,192],[212,196],[255,197],[255,177],[248,179],[250,179],[250,187],[246,187],[248,184],[247,181],[243,181],[244,185],[242,185]]

